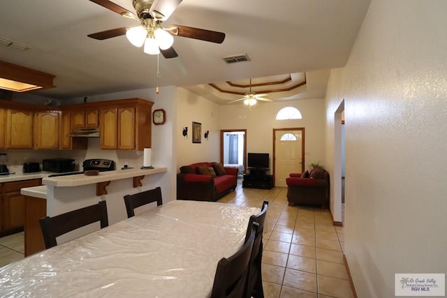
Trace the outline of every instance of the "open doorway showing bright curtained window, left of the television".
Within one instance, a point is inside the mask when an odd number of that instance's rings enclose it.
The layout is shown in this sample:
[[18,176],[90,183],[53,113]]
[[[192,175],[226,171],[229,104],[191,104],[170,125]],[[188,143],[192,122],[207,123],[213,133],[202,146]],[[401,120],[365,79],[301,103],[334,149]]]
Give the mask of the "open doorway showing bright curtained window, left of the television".
[[247,130],[221,130],[221,164],[225,167],[237,167],[239,175],[247,168]]

